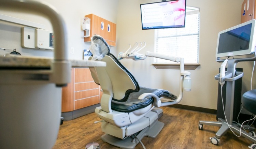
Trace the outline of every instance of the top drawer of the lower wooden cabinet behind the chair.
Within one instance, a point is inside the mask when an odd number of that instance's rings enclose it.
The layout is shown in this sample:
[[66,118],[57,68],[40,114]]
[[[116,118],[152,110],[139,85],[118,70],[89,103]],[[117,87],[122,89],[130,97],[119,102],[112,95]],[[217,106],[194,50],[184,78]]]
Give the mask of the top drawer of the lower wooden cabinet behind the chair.
[[94,81],[89,68],[75,68],[75,83]]

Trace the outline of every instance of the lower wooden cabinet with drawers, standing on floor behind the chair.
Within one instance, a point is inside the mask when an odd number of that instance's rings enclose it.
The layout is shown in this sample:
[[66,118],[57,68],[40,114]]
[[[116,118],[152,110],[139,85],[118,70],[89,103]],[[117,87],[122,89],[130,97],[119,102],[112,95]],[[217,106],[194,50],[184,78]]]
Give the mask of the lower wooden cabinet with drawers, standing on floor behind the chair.
[[72,68],[71,83],[62,88],[62,112],[73,111],[100,103],[102,91],[89,68]]

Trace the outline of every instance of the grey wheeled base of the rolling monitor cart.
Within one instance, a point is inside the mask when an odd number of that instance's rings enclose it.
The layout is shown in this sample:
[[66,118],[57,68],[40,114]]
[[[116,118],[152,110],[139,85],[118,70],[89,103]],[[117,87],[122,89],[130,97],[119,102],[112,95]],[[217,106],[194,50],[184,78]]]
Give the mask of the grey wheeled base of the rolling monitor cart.
[[[217,139],[220,139],[223,135],[225,135],[231,128],[231,130],[237,134],[240,134],[240,128],[235,125],[229,125],[224,119],[218,118],[218,121],[199,121],[199,130],[203,130],[203,124],[205,125],[212,125],[212,126],[219,126],[219,130],[215,134],[215,137]],[[253,137],[251,134],[245,132],[244,130],[241,130],[241,136],[247,138],[248,140],[252,141],[253,143],[256,143],[256,138]],[[213,141],[212,141],[213,143]],[[214,143],[213,143],[214,144]],[[215,145],[218,145],[215,144]]]

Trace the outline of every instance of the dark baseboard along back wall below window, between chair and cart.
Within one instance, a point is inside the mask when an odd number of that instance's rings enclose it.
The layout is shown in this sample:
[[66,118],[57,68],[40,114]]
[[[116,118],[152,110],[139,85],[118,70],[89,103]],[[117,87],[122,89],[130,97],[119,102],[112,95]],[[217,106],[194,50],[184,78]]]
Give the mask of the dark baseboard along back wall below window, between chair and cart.
[[181,105],[181,104],[170,105],[169,107],[184,109],[184,110],[197,111],[197,112],[208,113],[208,114],[216,114],[217,113],[217,110],[215,110],[215,109],[208,109],[208,108]]

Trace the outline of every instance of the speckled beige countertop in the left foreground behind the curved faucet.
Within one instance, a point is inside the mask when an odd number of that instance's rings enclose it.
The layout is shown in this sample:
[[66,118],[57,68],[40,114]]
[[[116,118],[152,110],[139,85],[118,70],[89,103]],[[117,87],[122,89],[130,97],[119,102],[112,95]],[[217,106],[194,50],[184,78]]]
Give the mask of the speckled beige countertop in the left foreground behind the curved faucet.
[[[35,56],[16,56],[9,55],[6,57],[0,57],[0,67],[2,68],[49,68],[53,58],[42,58]],[[71,66],[74,67],[94,67],[94,66],[106,66],[102,61],[91,60],[69,60]]]

